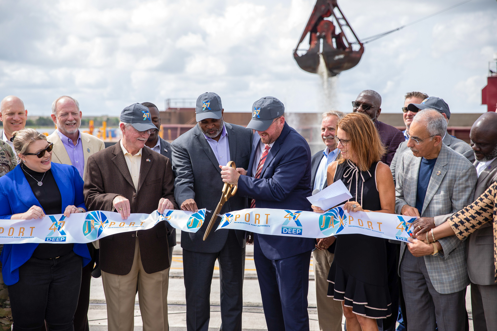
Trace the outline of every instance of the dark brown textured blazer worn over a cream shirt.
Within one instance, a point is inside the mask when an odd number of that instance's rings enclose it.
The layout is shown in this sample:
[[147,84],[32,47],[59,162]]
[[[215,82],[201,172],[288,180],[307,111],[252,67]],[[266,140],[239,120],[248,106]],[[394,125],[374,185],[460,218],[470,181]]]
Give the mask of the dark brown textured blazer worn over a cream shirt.
[[[171,163],[166,156],[149,148],[142,149],[138,192],[119,142],[88,158],[85,178],[83,193],[88,210],[112,211],[112,200],[116,196],[129,200],[132,213],[152,213],[161,198],[169,199],[178,209]],[[133,265],[136,236],[140,239],[140,257],[145,272],[158,272],[169,267],[167,228],[162,221],[149,230],[102,238],[100,268],[108,273],[128,274]]]

